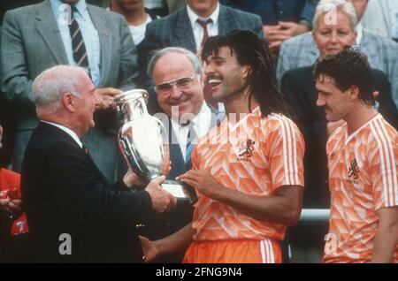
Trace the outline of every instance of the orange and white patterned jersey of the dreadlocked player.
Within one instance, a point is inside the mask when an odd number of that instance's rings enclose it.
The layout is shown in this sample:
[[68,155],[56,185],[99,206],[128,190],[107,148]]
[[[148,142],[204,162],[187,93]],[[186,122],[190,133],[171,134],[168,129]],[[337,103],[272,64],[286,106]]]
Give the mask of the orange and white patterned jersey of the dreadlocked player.
[[[209,171],[222,186],[255,196],[272,196],[280,186],[304,186],[304,141],[297,126],[280,114],[262,117],[259,107],[233,122],[231,116],[204,135],[195,147],[195,170]],[[277,239],[285,225],[256,220],[198,194],[194,239]]]

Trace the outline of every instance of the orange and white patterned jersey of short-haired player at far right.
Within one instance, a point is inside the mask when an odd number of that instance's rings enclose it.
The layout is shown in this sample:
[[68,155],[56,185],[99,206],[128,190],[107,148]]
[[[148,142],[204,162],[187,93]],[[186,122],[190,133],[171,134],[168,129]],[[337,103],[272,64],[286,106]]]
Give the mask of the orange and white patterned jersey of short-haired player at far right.
[[398,205],[398,133],[377,114],[349,136],[347,124],[336,129],[326,152],[331,215],[323,262],[370,262],[376,211]]

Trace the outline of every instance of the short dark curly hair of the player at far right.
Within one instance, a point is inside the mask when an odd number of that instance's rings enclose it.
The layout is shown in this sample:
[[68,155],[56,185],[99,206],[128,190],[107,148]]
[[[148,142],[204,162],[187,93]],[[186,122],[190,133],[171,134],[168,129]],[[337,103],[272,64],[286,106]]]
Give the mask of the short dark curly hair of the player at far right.
[[[321,77],[322,76],[322,77]],[[341,92],[349,87],[359,89],[358,98],[367,105],[374,105],[374,78],[368,58],[357,47],[346,47],[336,55],[326,56],[314,68],[314,79],[331,79]]]

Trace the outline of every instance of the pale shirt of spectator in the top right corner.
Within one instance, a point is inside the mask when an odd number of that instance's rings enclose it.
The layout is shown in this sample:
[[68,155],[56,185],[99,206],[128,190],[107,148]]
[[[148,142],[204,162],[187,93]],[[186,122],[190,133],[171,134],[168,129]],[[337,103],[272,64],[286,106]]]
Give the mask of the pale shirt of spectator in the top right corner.
[[398,40],[398,0],[369,0],[361,23],[366,30]]

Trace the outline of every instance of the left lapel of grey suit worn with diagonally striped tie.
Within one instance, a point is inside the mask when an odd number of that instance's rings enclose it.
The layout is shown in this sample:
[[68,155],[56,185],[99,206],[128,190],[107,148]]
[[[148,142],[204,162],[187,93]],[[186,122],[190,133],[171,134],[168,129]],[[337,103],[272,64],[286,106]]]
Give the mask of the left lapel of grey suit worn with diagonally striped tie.
[[59,65],[69,65],[64,42],[57,26],[57,19],[51,10],[50,1],[44,1],[37,6],[36,27],[43,41],[50,49],[51,55]]

